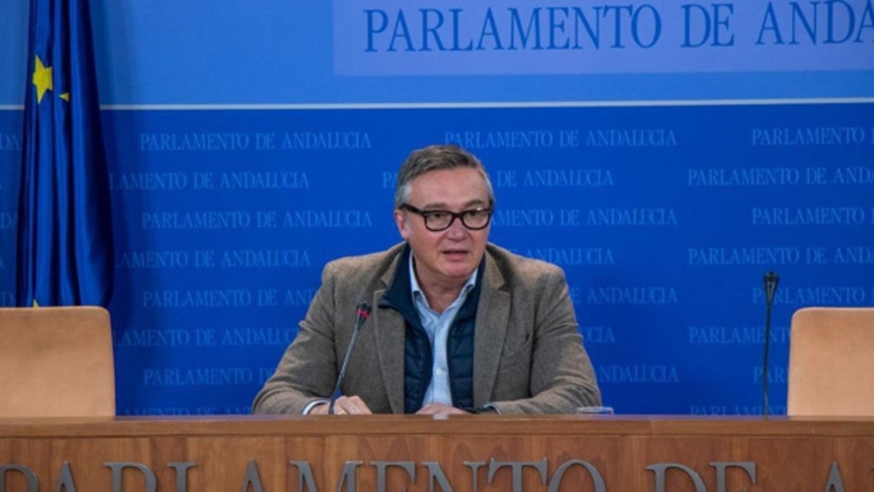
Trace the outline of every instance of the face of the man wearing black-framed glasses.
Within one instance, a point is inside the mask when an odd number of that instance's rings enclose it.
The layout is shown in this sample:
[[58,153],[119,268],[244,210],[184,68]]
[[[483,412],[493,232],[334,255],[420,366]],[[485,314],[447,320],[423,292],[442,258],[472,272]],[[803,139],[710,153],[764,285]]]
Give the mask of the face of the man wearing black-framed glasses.
[[[406,204],[422,211],[488,208],[489,188],[472,168],[434,170],[413,179]],[[455,218],[448,229],[434,232],[425,227],[425,218],[410,211],[394,211],[394,219],[413,250],[416,276],[423,288],[461,284],[479,267],[490,224],[471,231]]]

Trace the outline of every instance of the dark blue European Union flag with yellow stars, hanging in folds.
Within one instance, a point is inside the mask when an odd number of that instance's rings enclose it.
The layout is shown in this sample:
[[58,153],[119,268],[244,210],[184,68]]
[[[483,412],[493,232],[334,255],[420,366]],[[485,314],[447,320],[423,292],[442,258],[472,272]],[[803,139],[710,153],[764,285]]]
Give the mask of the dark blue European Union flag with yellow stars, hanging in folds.
[[106,157],[87,0],[31,0],[17,305],[112,295]]

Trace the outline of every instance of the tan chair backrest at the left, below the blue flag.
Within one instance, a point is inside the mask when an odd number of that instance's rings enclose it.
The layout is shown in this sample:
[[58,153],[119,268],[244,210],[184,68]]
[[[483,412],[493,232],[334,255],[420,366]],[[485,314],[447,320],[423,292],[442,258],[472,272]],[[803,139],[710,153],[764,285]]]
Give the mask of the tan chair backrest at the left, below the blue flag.
[[104,308],[0,308],[0,417],[115,414]]

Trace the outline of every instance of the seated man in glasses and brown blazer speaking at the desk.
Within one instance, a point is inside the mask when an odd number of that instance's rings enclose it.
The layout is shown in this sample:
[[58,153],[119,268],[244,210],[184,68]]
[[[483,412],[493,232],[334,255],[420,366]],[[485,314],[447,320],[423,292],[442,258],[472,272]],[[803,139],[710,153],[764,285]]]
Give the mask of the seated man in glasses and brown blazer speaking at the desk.
[[356,306],[373,306],[336,413],[574,412],[600,405],[563,272],[487,242],[482,163],[434,145],[400,168],[403,243],[330,262],[253,412],[323,414]]

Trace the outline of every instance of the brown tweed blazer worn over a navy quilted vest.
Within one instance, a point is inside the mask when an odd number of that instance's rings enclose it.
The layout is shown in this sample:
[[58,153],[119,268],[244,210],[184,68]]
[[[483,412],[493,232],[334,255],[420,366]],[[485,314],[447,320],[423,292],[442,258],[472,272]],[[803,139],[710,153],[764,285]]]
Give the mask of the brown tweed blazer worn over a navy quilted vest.
[[[328,398],[350,343],[355,308],[373,312],[358,337],[343,381],[374,413],[404,412],[405,322],[378,308],[404,243],[382,253],[331,261],[301,331],[274,375],[255,397],[253,412],[301,413]],[[583,349],[565,274],[489,244],[476,313],[474,404],[502,413],[567,413],[600,405],[592,364]]]

